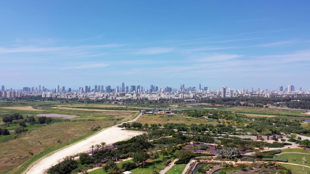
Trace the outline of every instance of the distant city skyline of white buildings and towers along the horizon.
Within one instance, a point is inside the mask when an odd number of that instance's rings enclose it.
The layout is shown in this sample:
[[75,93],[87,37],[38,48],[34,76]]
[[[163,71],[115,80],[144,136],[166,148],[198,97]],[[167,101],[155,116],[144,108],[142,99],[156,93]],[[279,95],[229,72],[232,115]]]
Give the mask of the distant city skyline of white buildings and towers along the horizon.
[[222,86],[217,90],[209,89],[207,86],[201,88],[201,84],[196,89],[196,87],[185,87],[184,84],[180,85],[179,89],[171,88],[166,86],[165,88],[159,88],[155,85],[150,85],[150,89],[145,89],[143,86],[132,85],[117,86],[116,88],[111,88],[111,86],[95,85],[94,89],[91,86],[79,87],[77,90],[65,89],[64,86],[60,88],[60,85],[56,85],[55,89],[49,90],[41,85],[36,87],[23,87],[23,89],[13,91],[12,88],[5,89],[2,85],[2,91],[0,91],[0,98],[14,98],[22,97],[23,95],[42,95],[42,98],[64,98],[64,99],[108,99],[108,100],[123,100],[123,99],[143,99],[147,98],[149,100],[159,100],[164,99],[194,99],[194,98],[216,98],[216,97],[237,97],[237,96],[260,96],[270,98],[272,95],[280,96],[291,96],[291,95],[310,95],[310,91],[295,91],[294,85],[289,85],[285,90],[283,86],[280,86],[277,90],[268,89],[257,89],[251,90],[233,89],[227,86]]

